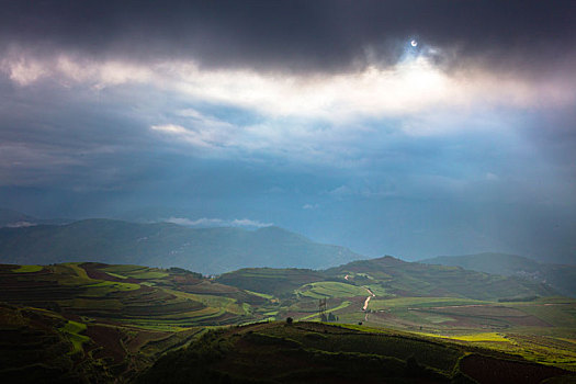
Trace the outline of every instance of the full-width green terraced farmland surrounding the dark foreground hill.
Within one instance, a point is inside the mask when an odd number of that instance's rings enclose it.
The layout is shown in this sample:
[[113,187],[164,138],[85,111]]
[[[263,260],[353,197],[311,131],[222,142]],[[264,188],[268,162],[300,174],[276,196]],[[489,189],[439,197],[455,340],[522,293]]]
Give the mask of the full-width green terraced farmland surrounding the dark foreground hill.
[[[386,359],[399,359],[405,366],[414,354],[422,366],[440,373],[432,375],[436,382],[452,380],[458,361],[462,372],[489,363],[500,364],[504,370],[513,365],[500,360],[490,362],[494,357],[500,359],[498,353],[541,364],[538,366],[576,372],[576,301],[544,296],[550,289],[531,282],[468,271],[463,278],[456,273],[458,268],[434,268],[436,274],[434,270],[423,272],[419,266],[383,258],[327,271],[244,269],[208,279],[178,268],[90,262],[3,264],[0,373],[30,380],[46,376],[70,382],[82,377],[90,382],[129,382],[167,352],[196,342],[207,331],[231,330],[240,325],[248,327],[241,329],[264,327],[267,337],[295,340],[305,350],[321,350],[324,358],[323,353],[381,353]],[[462,279],[473,283],[478,279],[505,289],[488,286],[482,291],[478,285],[473,294],[460,292]],[[510,297],[510,292],[530,294],[530,300],[526,295]],[[320,301],[326,301],[321,312]],[[326,327],[319,323],[323,314],[325,320],[339,327],[314,330]],[[287,318],[297,327],[262,325],[285,324]],[[312,334],[298,334],[302,327]],[[294,329],[300,330],[285,334]],[[324,339],[325,330],[355,336],[347,336],[348,341],[340,343],[334,336]],[[411,354],[400,353],[402,348],[392,341],[400,339],[393,335],[402,336],[403,343],[409,339],[425,347],[450,346],[445,351],[453,354],[444,351],[445,361],[434,362],[419,354],[428,353],[427,347],[415,349],[410,343]],[[382,338],[386,347],[379,341]],[[261,336],[240,339],[248,350],[250,343],[270,341]],[[478,348],[481,357],[462,354],[463,350],[476,353]],[[19,352],[12,355],[12,350]],[[237,358],[252,359],[244,352]],[[328,365],[332,366],[330,359]],[[325,369],[331,370],[329,366]]]

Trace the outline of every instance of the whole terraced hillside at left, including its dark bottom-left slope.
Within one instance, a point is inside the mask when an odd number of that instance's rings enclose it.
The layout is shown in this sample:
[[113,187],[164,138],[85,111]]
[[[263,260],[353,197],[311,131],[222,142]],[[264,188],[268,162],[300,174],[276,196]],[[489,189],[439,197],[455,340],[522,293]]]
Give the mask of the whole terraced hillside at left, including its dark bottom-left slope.
[[127,380],[210,327],[266,318],[266,301],[179,269],[0,266],[0,374]]

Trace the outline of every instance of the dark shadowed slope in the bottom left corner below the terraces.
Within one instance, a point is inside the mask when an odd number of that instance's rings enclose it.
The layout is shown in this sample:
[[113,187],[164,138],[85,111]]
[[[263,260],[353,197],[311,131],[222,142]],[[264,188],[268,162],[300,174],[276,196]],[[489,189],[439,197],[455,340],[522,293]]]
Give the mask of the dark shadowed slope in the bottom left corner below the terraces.
[[124,382],[201,329],[154,331],[0,303],[4,383]]

